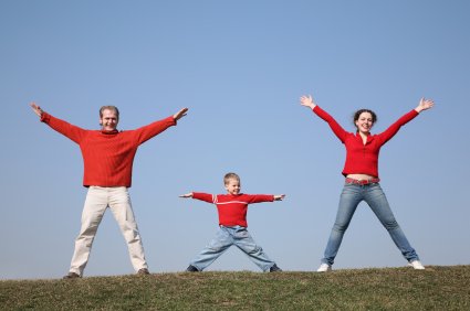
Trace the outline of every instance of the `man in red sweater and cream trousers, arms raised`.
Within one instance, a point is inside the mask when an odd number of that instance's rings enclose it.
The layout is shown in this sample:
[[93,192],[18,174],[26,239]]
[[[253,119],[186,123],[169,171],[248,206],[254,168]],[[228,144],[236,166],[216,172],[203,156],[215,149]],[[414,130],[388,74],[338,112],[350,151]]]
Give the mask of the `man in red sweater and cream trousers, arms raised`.
[[134,269],[139,275],[148,275],[144,247],[128,193],[134,157],[142,143],[170,126],[176,126],[177,120],[186,116],[188,108],[163,120],[127,131],[116,129],[119,110],[115,106],[103,106],[100,109],[101,130],[85,130],[67,124],[43,111],[35,103],[31,103],[31,108],[42,122],[80,146],[84,162],[83,185],[88,187],[88,191],[71,267],[64,278],[82,277],[97,227],[107,207],[113,212],[124,235]]

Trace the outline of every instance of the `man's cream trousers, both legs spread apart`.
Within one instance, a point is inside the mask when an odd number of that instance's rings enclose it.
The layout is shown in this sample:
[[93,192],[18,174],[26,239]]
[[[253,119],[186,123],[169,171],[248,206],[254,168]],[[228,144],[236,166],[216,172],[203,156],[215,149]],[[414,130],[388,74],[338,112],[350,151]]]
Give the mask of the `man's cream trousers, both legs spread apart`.
[[82,228],[75,239],[75,250],[70,272],[83,275],[88,261],[93,239],[107,207],[113,213],[127,243],[134,269],[138,271],[139,269],[148,268],[127,187],[90,186],[82,213]]

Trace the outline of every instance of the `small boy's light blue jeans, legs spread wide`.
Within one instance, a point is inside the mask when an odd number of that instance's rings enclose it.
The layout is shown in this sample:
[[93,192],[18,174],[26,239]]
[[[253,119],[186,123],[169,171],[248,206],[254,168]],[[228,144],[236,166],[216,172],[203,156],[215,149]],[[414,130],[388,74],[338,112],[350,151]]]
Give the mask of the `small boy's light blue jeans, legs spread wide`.
[[247,254],[261,270],[269,271],[274,266],[274,261],[254,243],[247,228],[241,226],[220,226],[216,237],[199,253],[190,265],[202,271],[232,245]]

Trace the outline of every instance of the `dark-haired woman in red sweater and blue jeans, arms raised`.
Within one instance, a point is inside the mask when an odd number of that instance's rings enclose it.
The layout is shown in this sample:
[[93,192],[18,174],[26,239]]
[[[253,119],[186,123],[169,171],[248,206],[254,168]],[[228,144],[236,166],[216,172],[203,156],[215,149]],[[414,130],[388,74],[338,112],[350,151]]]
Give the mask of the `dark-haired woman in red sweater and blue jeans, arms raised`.
[[312,99],[312,96],[302,96],[300,101],[302,106],[311,108],[313,112],[325,120],[346,147],[346,162],[343,169],[343,175],[346,178],[345,184],[340,197],[336,221],[317,271],[326,272],[332,269],[344,233],[353,218],[357,205],[362,201],[365,201],[370,206],[409,265],[415,269],[425,269],[419,261],[418,254],[408,243],[396,222],[384,191],[379,185],[378,153],[382,146],[391,139],[401,126],[412,120],[419,112],[431,108],[434,101],[421,98],[418,107],[404,115],[388,129],[378,135],[370,133],[372,127],[377,121],[377,117],[372,110],[361,109],[355,112],[354,125],[357,130],[356,133],[352,133],[345,131],[332,116],[320,108]]

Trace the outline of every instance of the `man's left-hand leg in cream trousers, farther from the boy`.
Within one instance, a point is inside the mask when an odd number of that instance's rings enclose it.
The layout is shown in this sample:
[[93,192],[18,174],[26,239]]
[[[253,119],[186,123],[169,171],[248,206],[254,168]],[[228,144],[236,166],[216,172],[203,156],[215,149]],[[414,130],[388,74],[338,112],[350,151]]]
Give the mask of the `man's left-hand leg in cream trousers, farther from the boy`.
[[75,239],[75,250],[72,256],[70,272],[79,276],[83,275],[83,270],[88,261],[93,239],[95,238],[96,230],[103,219],[106,207],[107,195],[105,190],[91,186],[86,194],[82,212],[82,227]]

